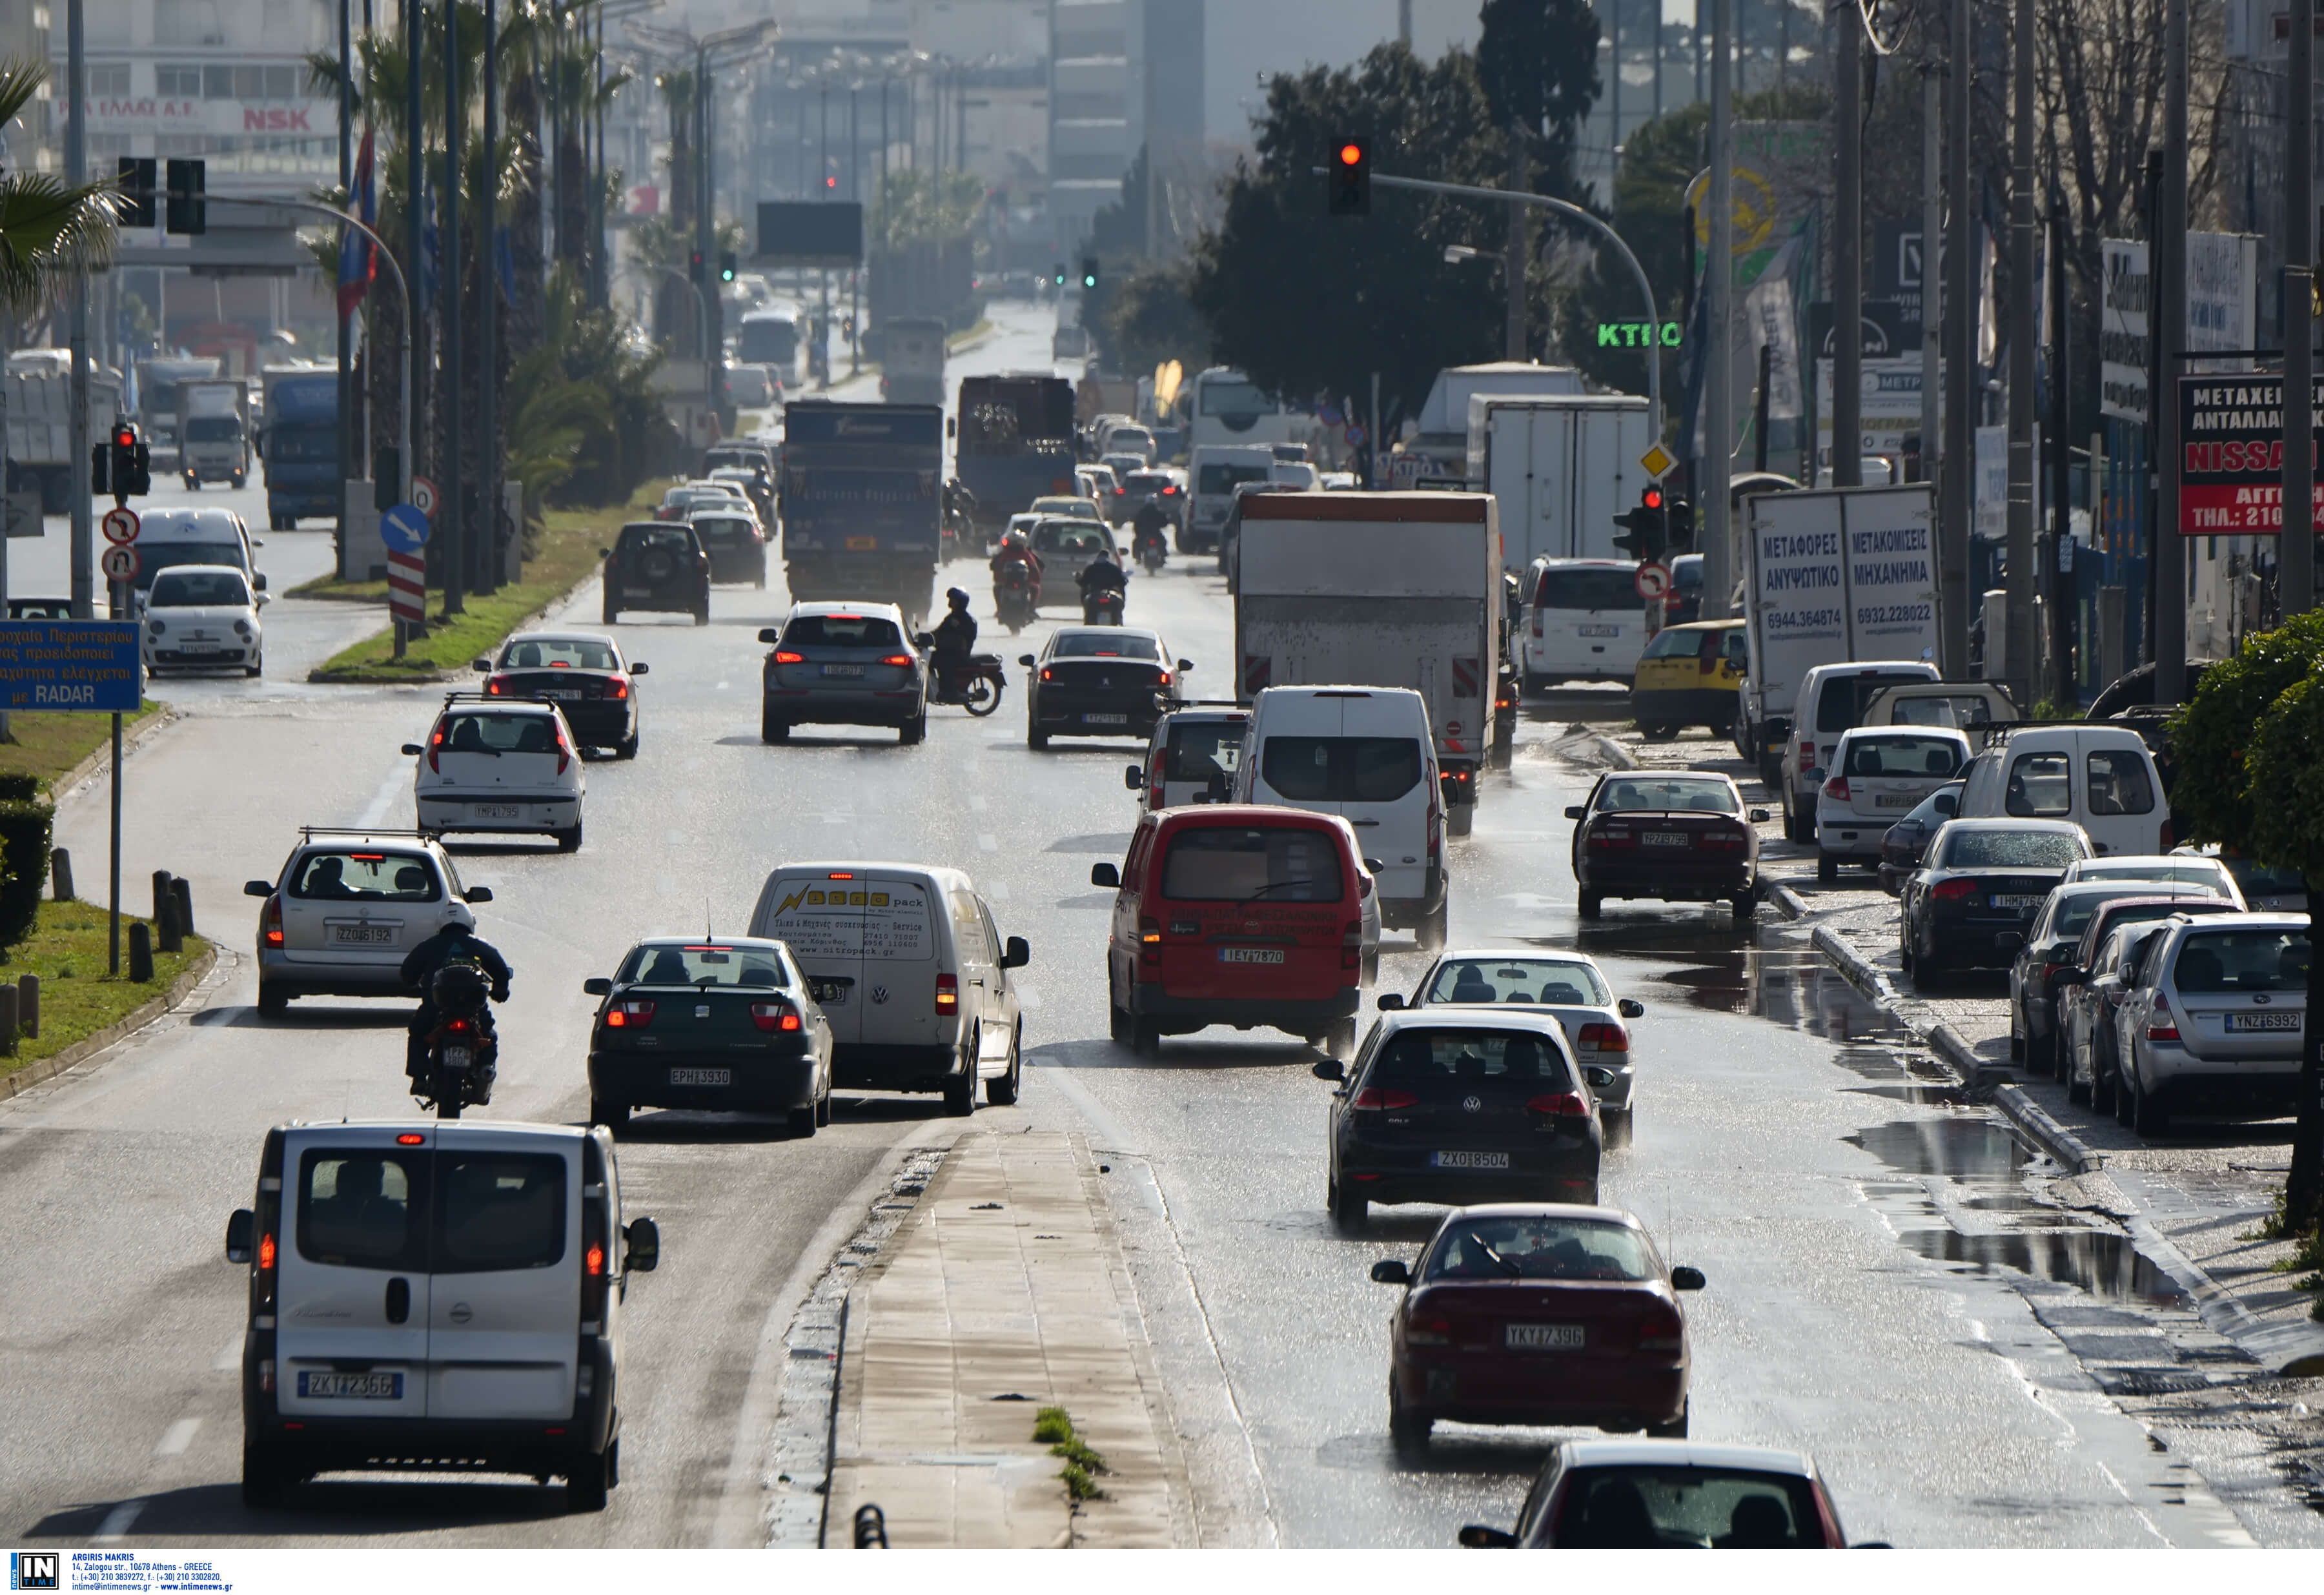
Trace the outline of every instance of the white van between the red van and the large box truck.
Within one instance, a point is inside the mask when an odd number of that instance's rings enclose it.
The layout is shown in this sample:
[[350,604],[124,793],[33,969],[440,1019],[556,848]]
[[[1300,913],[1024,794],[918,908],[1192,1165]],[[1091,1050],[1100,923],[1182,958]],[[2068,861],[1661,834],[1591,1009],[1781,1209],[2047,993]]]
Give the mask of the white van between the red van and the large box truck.
[[1427,700],[1408,686],[1271,686],[1250,702],[1234,802],[1339,814],[1380,881],[1380,923],[1439,951],[1446,804]]

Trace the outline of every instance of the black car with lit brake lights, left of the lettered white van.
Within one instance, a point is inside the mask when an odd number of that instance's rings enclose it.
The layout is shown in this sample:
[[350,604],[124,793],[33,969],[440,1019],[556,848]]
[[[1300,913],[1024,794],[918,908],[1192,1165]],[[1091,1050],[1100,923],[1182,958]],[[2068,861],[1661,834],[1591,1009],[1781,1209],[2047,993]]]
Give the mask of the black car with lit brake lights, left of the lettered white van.
[[637,1107],[783,1114],[792,1135],[832,1121],[832,1025],[783,942],[655,937],[614,979],[581,984],[588,1121],[621,1130]]

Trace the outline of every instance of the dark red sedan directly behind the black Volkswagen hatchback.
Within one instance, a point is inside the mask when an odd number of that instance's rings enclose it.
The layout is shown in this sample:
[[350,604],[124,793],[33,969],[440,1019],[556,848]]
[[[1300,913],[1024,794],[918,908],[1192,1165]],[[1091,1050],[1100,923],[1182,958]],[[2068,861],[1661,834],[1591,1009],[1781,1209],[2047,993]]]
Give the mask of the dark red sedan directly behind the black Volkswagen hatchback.
[[1397,1304],[1387,1432],[1427,1451],[1452,1423],[1594,1423],[1652,1437],[1687,1432],[1692,1267],[1666,1267],[1618,1207],[1462,1207],[1420,1263],[1373,1263]]

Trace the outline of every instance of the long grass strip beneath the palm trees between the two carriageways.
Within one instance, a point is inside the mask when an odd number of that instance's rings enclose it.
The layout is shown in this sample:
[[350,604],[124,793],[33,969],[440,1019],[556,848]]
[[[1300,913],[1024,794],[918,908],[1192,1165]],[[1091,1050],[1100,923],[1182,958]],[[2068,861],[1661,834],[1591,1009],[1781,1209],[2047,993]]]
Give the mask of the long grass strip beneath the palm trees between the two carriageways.
[[[483,598],[467,598],[462,614],[442,611],[428,618],[428,635],[414,637],[404,658],[395,658],[395,628],[381,628],[351,649],[339,649],[309,672],[309,681],[432,681],[458,674],[481,653],[525,623],[525,616],[555,602],[597,570],[597,549],[611,544],[623,521],[653,514],[662,500],[662,481],[648,481],[627,505],[604,509],[551,509],[532,539],[525,577]],[[295,598],[332,598],[349,602],[388,602],[386,581],[307,581]]]

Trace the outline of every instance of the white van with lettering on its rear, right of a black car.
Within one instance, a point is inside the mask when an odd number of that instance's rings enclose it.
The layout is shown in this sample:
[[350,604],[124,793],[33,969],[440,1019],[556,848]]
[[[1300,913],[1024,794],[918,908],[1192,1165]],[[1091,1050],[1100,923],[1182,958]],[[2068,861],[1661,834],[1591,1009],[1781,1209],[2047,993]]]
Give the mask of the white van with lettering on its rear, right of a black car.
[[751,935],[790,956],[832,1021],[832,1083],[941,1090],[951,1114],[1016,1102],[1025,1023],[1011,970],[1025,937],[1002,942],[992,909],[960,870],[937,865],[781,865],[751,911]]

